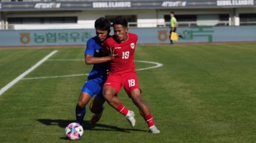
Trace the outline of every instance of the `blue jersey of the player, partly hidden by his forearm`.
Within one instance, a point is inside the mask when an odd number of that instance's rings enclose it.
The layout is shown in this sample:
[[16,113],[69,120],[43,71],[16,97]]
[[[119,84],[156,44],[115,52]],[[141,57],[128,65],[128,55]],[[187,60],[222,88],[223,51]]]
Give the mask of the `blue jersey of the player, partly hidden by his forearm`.
[[[90,54],[94,57],[102,57],[101,51],[102,44],[97,36],[92,37],[87,41],[87,48],[85,50],[85,54]],[[94,67],[91,69],[89,73],[88,80],[95,78],[106,78],[106,69],[109,69],[109,63],[98,63],[94,64]]]

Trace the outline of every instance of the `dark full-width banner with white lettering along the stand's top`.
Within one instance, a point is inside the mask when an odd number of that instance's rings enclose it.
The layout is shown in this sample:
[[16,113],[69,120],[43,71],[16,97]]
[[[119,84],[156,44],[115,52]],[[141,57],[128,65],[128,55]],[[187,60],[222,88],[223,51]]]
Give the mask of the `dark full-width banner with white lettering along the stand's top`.
[[[1,1],[1,0],[0,0]],[[208,7],[255,7],[256,0],[165,0],[165,1],[58,1],[58,2],[0,2],[0,11],[33,11],[33,10],[146,10],[175,7],[208,8]]]

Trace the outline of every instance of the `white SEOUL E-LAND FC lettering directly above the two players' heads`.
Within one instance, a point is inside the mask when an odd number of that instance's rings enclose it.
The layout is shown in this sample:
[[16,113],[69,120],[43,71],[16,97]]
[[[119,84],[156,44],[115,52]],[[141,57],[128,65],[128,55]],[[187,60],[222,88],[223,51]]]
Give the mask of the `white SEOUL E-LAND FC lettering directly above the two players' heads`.
[[94,2],[92,7],[94,8],[122,8],[122,7],[131,7],[132,3],[130,1],[121,1],[121,2]]

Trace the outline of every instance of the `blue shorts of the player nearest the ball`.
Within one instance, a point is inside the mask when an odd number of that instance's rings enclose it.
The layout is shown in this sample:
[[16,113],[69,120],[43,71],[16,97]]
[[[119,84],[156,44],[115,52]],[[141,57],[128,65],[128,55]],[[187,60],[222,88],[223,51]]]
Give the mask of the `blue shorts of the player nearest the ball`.
[[91,95],[91,97],[94,97],[94,95],[96,95],[97,98],[105,101],[102,94],[102,86],[104,82],[105,80],[103,80],[102,78],[88,78],[87,82],[85,82],[85,84],[83,85],[83,89],[81,91],[88,93],[89,95]]

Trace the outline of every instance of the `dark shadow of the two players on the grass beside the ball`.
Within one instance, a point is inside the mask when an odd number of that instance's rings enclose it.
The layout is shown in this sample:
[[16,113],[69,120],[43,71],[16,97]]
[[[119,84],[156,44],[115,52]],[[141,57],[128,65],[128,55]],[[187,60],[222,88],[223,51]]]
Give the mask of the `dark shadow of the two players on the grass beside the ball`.
[[[66,128],[66,126],[70,123],[75,123],[76,121],[72,120],[52,120],[52,119],[38,119],[38,122],[44,124],[44,125],[58,125],[59,127]],[[101,129],[94,129],[95,127],[100,127]],[[119,128],[116,126],[111,126],[111,125],[104,125],[104,124],[91,124],[89,121],[83,121],[83,129],[84,130],[91,130],[91,131],[121,131],[121,132],[126,132],[130,133],[130,131],[143,131],[147,132],[142,129],[124,129],[124,128]]]

